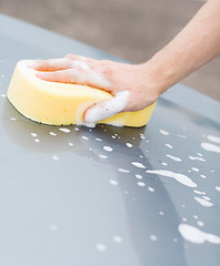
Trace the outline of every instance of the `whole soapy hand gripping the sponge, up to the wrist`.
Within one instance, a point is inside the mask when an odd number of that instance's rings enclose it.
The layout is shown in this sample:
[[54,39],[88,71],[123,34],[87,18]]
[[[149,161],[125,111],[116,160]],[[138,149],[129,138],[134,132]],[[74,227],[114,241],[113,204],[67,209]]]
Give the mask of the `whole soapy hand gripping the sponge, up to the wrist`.
[[157,76],[147,63],[124,64],[68,54],[62,59],[37,60],[31,68],[46,81],[84,84],[110,92],[111,100],[97,103],[84,112],[84,121],[89,123],[119,112],[141,110],[160,95],[154,82]]

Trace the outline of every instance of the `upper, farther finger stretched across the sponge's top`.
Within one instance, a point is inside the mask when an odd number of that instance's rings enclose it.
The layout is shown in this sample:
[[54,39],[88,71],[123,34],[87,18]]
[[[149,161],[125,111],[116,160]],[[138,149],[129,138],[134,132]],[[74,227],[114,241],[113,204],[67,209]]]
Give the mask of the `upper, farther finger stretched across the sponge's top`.
[[57,71],[72,68],[72,61],[67,58],[36,60],[29,66],[38,71]]

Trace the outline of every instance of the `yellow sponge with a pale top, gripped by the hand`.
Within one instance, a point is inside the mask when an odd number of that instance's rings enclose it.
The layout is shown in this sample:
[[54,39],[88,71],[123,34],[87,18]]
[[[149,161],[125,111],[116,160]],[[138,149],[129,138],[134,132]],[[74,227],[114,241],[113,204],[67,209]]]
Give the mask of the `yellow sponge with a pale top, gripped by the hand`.
[[[51,125],[83,124],[84,111],[94,103],[112,95],[87,85],[49,82],[36,76],[28,68],[30,60],[19,61],[13,72],[8,99],[26,117]],[[154,103],[141,111],[122,112],[98,123],[118,126],[146,125],[153,112]]]

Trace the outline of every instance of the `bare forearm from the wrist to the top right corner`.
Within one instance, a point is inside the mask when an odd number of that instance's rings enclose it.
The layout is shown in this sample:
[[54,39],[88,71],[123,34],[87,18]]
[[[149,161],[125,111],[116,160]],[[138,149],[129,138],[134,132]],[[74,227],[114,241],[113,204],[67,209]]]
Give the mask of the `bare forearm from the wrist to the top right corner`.
[[220,53],[220,0],[209,0],[183,30],[146,63],[161,93]]

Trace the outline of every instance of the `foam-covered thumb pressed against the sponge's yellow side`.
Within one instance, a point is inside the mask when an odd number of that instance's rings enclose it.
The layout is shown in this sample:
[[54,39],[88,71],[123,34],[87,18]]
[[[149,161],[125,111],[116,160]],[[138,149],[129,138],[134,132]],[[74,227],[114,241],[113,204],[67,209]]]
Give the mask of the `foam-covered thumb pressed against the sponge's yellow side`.
[[129,94],[129,91],[117,92],[112,99],[92,105],[84,113],[84,122],[94,123],[120,113],[128,103]]

